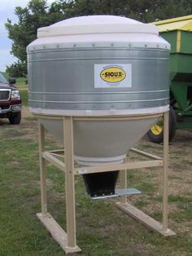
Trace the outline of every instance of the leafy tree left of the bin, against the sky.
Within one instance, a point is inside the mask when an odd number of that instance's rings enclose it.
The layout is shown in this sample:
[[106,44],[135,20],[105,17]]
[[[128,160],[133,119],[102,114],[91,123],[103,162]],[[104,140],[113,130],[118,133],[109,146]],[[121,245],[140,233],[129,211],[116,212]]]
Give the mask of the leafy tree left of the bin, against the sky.
[[15,77],[26,74],[26,46],[37,38],[37,29],[63,20],[63,13],[55,10],[54,6],[52,5],[51,11],[47,7],[46,0],[31,0],[27,7],[15,7],[18,23],[12,24],[8,19],[5,25],[9,38],[13,40],[11,54],[19,61],[7,67],[7,72]]

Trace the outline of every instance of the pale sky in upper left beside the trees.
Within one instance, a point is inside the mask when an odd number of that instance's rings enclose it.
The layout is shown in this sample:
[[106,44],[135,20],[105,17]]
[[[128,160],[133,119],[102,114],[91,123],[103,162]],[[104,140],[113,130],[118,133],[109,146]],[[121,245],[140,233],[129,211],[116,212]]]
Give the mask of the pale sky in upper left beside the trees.
[[[5,71],[7,65],[14,63],[17,59],[11,55],[12,41],[8,38],[5,23],[10,19],[17,23],[17,16],[14,13],[15,7],[26,7],[29,0],[0,0],[0,71]],[[47,3],[55,2],[48,0]]]

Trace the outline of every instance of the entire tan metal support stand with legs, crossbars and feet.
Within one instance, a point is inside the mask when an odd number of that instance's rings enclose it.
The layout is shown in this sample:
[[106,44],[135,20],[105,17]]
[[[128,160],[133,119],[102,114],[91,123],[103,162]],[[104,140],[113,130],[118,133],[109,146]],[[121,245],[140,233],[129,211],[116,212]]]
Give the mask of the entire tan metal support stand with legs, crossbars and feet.
[[[45,152],[45,133],[44,127],[41,125],[41,118],[58,118],[63,120],[63,135],[65,150],[55,150]],[[146,116],[147,117],[147,116]],[[150,116],[151,117],[151,116]],[[81,249],[76,245],[76,208],[75,208],[75,175],[99,173],[103,171],[120,170],[120,189],[127,188],[127,170],[146,168],[153,166],[163,166],[163,224],[157,222],[154,218],[138,210],[133,205],[127,202],[127,196],[122,196],[120,202],[116,206],[129,214],[133,218],[150,227],[151,229],[161,233],[163,236],[174,236],[175,232],[168,229],[168,112],[164,113],[164,158],[154,156],[147,152],[142,152],[135,148],[131,150],[142,156],[151,158],[147,161],[126,161],[116,165],[105,166],[78,166],[74,167],[73,159],[73,121],[98,121],[98,120],[113,120],[120,119],[130,120],[143,118],[137,117],[46,117],[37,115],[39,118],[39,156],[40,156],[40,174],[41,174],[41,213],[37,217],[44,224],[51,236],[59,243],[66,254],[80,252]],[[144,117],[145,118],[145,117]],[[63,159],[65,162],[63,162]],[[67,215],[67,232],[64,232],[62,227],[46,210],[46,161],[63,170],[65,173],[66,184],[66,215]],[[137,194],[137,192],[135,192]]]

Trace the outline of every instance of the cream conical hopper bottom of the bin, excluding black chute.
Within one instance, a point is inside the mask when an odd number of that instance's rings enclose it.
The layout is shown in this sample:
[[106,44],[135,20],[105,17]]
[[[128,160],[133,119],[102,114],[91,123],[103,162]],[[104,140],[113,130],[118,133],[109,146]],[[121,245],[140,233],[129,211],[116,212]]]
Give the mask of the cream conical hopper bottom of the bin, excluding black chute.
[[[118,164],[124,160],[156,118],[141,117],[136,120],[118,121],[74,121],[74,155],[81,166]],[[60,120],[40,119],[55,140],[63,143],[63,118]]]

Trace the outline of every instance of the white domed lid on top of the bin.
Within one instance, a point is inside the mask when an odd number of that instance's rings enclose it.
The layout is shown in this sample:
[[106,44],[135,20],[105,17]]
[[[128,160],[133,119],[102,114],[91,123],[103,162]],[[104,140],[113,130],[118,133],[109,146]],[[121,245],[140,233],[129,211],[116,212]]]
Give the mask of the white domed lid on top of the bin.
[[37,38],[94,34],[94,33],[153,33],[158,29],[153,24],[115,15],[89,15],[62,20],[37,30]]

